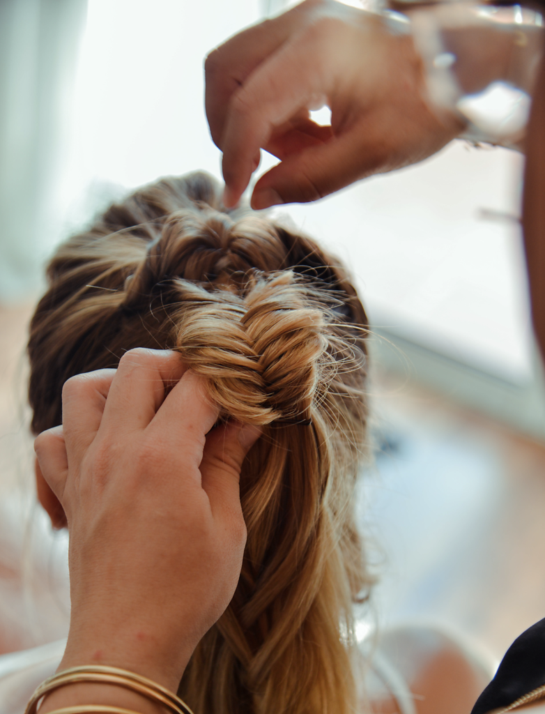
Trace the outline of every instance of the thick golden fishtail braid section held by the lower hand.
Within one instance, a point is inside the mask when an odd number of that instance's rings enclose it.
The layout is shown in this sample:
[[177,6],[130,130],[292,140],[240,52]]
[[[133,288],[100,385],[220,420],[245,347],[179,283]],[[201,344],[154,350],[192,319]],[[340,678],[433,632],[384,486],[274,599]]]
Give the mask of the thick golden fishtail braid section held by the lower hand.
[[327,364],[323,310],[291,271],[253,278],[244,298],[183,286],[176,348],[225,414],[265,425],[305,419]]

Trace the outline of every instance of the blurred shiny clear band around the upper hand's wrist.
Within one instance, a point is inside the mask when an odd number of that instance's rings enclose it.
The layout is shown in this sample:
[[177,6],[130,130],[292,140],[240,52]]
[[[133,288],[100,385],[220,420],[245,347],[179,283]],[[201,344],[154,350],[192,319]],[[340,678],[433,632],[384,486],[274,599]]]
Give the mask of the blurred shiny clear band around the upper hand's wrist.
[[449,2],[410,16],[433,109],[462,119],[465,139],[517,146],[541,58],[541,14],[519,5]]

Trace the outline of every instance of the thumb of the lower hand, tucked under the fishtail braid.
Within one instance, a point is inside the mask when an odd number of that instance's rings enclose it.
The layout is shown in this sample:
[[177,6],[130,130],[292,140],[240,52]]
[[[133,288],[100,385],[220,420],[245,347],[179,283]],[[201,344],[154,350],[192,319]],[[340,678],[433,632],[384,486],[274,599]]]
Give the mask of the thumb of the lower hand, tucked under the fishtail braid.
[[240,513],[240,469],[260,434],[258,426],[230,421],[206,436],[200,473],[213,513],[225,509]]

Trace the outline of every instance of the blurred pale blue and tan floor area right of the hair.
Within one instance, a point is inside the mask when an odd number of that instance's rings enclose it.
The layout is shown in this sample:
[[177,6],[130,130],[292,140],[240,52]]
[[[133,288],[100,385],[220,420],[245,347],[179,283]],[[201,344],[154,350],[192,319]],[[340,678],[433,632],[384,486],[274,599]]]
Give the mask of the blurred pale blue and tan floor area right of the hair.
[[545,617],[545,445],[397,377],[374,388],[379,623],[439,620],[499,657]]

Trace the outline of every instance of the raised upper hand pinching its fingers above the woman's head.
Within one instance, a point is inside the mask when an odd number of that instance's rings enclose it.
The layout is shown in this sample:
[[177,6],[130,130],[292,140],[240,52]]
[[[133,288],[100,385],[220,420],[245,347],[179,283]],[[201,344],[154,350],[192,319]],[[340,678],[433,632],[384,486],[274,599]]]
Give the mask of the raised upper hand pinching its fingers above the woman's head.
[[[256,184],[253,208],[314,201],[421,161],[462,130],[429,111],[410,36],[334,0],[305,0],[234,36],[208,55],[205,75],[227,206],[248,186],[260,149],[280,164]],[[324,102],[332,126],[309,119]]]

